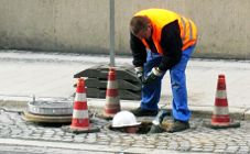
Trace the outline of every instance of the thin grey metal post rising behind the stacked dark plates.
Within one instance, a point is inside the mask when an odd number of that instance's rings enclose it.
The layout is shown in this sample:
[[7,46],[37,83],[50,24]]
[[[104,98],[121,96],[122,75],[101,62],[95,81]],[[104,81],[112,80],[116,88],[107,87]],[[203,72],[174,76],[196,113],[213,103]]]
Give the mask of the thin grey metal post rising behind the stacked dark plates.
[[110,66],[115,67],[115,0],[110,0]]

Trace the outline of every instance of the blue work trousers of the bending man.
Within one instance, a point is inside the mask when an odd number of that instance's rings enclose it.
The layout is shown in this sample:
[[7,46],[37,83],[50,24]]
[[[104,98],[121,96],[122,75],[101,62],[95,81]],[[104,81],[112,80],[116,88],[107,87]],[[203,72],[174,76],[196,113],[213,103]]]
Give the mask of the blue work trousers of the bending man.
[[[187,62],[195,48],[195,45],[183,51],[182,59],[170,69],[171,87],[173,95],[172,111],[175,120],[186,122],[189,120],[191,110],[187,107],[187,90],[185,69]],[[144,75],[151,72],[153,67],[157,67],[162,61],[162,55],[149,51],[146,63],[144,64]],[[165,73],[157,79],[155,85],[142,86],[141,108],[146,110],[159,110],[157,103],[161,98],[162,78]],[[167,87],[163,87],[167,88]]]

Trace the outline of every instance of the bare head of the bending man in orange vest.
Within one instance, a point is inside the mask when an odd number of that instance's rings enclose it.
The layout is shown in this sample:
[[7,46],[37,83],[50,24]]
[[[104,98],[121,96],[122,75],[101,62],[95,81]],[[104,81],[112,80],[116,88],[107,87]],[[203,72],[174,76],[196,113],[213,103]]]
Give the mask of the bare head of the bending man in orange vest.
[[141,40],[149,38],[152,34],[152,24],[146,16],[133,16],[130,20],[130,31]]

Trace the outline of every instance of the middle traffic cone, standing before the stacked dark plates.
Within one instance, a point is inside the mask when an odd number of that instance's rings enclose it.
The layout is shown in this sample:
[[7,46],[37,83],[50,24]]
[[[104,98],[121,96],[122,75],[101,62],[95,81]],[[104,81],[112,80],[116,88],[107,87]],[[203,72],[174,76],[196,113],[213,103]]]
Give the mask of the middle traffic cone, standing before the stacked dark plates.
[[109,68],[104,116],[113,117],[120,110],[120,96],[118,90],[116,69]]

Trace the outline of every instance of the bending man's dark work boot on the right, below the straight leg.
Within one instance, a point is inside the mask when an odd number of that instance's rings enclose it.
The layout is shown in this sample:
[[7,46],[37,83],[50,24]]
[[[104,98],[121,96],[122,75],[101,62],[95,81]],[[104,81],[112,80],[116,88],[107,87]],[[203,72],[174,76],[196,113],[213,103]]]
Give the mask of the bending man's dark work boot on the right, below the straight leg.
[[188,121],[182,122],[182,121],[175,120],[174,124],[166,128],[166,132],[169,132],[169,133],[181,132],[181,131],[184,131],[189,128],[191,128],[191,125],[189,125]]

